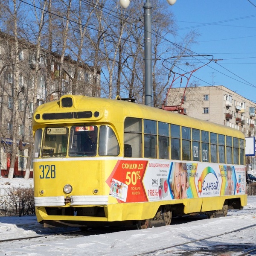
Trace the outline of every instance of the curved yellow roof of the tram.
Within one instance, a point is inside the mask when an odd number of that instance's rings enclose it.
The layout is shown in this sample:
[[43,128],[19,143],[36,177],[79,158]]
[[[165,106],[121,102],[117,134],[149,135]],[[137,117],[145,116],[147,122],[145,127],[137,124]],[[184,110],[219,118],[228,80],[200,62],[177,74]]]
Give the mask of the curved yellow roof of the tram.
[[[72,98],[73,106],[70,108],[61,106],[61,99]],[[98,111],[99,117],[79,119],[76,122],[95,122],[100,120],[101,122],[123,122],[126,117],[136,117],[142,119],[151,119],[161,122],[172,123],[175,125],[182,125],[186,127],[201,129],[204,131],[211,131],[215,133],[227,134],[234,137],[244,137],[243,133],[234,128],[230,128],[224,125],[215,124],[212,122],[196,119],[190,116],[182,115],[177,112],[170,112],[159,108],[153,108],[142,104],[133,102],[106,99],[106,98],[93,98],[81,95],[65,95],[60,100],[44,103],[39,106],[33,115],[33,125],[44,124],[60,124],[64,122],[64,119],[58,120],[43,120],[42,118],[37,120],[35,115],[40,113],[61,113],[72,111]],[[70,119],[73,121],[74,119]]]

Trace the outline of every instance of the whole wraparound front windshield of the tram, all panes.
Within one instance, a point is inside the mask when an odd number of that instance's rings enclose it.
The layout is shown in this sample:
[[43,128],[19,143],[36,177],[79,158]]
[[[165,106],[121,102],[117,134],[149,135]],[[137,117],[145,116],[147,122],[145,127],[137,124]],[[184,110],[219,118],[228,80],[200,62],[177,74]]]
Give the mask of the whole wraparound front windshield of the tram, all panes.
[[[99,132],[98,132],[99,130]],[[42,151],[41,151],[41,137]],[[98,135],[99,134],[99,135]],[[116,135],[108,125],[47,127],[35,131],[34,158],[117,156],[120,147]]]

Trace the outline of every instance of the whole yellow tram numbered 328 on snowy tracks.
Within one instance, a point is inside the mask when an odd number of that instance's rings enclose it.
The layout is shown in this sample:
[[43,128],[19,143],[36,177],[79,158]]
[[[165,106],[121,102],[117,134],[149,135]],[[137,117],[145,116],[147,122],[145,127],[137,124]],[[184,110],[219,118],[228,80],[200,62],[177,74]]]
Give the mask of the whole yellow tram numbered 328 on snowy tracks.
[[170,224],[247,204],[241,131],[119,99],[65,95],[32,118],[47,225]]

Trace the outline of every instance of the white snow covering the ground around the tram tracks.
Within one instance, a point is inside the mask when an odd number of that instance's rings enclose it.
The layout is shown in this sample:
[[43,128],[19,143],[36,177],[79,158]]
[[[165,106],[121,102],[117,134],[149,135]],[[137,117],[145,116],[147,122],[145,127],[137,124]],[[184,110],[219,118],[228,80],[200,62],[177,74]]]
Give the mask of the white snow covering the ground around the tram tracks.
[[[6,182],[0,178],[0,186]],[[31,186],[24,180],[11,180],[12,184]],[[6,185],[4,185],[6,186]],[[9,185],[10,186],[10,185]],[[173,221],[169,226],[151,228],[147,230],[128,230],[101,235],[82,236],[72,239],[55,239],[54,236],[42,237],[41,241],[29,240],[14,241],[12,244],[1,243],[1,255],[27,255],[27,256],[60,256],[60,255],[123,255],[132,256],[151,250],[181,244],[194,239],[202,239],[207,236],[215,236],[227,233],[221,239],[203,241],[204,247],[216,246],[216,244],[248,244],[256,241],[256,196],[248,197],[248,204],[244,210],[229,211],[227,217],[207,219],[198,217],[194,221],[179,223]],[[244,214],[242,214],[244,213]],[[239,234],[228,233],[245,226],[254,225],[250,229],[241,230]],[[64,229],[44,228],[38,224],[35,216],[30,217],[0,217],[0,240],[34,235],[47,235]],[[68,229],[70,230],[70,229]],[[67,230],[67,231],[68,231]],[[198,250],[198,245],[191,245],[190,250]],[[179,250],[175,251],[180,253]],[[160,251],[154,255],[175,255]],[[145,254],[148,255],[148,254]],[[182,254],[179,254],[182,255]],[[199,255],[199,254],[198,254]],[[205,254],[204,254],[205,255]],[[209,255],[209,254],[208,254]],[[230,255],[235,255],[234,253]]]

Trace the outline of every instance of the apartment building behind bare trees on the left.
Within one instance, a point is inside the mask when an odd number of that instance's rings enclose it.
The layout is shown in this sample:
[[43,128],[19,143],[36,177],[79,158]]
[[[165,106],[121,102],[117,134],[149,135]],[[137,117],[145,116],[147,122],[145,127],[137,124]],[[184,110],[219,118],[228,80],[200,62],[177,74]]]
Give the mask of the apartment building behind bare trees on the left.
[[[28,155],[28,148],[32,113],[38,105],[73,92],[85,96],[100,96],[100,71],[97,71],[95,76],[92,67],[78,63],[70,56],[65,56],[61,65],[60,55],[55,52],[48,53],[43,48],[40,51],[40,58],[36,59],[35,45],[23,40],[19,41],[17,63],[14,49],[14,39],[0,32],[0,175],[2,176],[8,175],[10,167],[14,127],[17,127],[18,147],[15,176],[23,176],[27,158],[31,157]],[[15,81],[18,81],[18,84]],[[18,106],[16,120],[13,118],[14,101]]]

